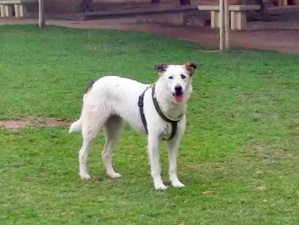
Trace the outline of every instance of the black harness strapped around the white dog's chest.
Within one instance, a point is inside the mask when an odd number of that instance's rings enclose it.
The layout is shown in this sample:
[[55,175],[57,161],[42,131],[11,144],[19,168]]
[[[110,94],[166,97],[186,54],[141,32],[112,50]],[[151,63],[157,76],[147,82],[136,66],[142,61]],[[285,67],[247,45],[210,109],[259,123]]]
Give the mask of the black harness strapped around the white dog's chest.
[[139,110],[140,110],[140,116],[141,116],[141,120],[142,120],[142,123],[145,127],[145,130],[146,130],[146,133],[148,134],[148,124],[147,124],[147,120],[146,120],[146,117],[145,117],[145,114],[144,114],[144,97],[145,97],[145,93],[146,91],[151,88],[151,98],[152,98],[152,102],[153,102],[153,105],[157,111],[157,113],[159,114],[159,116],[165,120],[166,122],[168,123],[171,123],[172,124],[172,131],[171,131],[171,135],[169,137],[169,139],[167,139],[167,141],[169,141],[170,139],[172,139],[176,133],[176,128],[177,128],[177,122],[181,120],[181,118],[179,118],[178,120],[171,120],[169,118],[167,118],[159,104],[158,104],[158,101],[157,99],[154,97],[154,90],[155,90],[155,87],[154,87],[154,84],[153,85],[149,85],[149,87],[147,87],[146,90],[144,90],[144,92],[139,96],[139,100],[138,100],[138,106],[139,106]]

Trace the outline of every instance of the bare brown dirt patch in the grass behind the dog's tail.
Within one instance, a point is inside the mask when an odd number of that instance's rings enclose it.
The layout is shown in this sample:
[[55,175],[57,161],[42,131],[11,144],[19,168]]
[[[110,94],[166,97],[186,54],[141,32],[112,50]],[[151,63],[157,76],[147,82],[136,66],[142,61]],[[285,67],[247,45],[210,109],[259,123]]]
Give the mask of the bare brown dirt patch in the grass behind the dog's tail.
[[68,126],[69,124],[68,121],[48,117],[20,117],[17,119],[0,120],[0,127],[12,130],[27,127]]

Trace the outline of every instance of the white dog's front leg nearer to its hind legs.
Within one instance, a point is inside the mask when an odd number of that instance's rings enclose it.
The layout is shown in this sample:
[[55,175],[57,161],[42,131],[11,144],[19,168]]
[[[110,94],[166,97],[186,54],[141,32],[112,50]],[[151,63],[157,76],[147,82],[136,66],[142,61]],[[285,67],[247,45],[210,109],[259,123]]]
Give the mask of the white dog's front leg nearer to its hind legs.
[[155,189],[166,189],[161,179],[161,167],[159,163],[159,148],[161,140],[156,134],[149,133],[148,136],[148,151],[150,160],[150,174],[153,179]]

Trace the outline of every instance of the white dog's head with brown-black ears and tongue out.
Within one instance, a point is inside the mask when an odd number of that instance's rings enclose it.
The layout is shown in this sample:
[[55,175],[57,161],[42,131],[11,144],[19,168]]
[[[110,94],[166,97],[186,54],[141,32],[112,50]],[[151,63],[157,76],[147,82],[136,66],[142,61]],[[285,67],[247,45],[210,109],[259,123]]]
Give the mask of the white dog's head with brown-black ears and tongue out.
[[155,65],[153,70],[160,76],[159,81],[167,89],[174,102],[187,100],[192,92],[191,76],[197,65],[194,62],[187,62],[183,65]]

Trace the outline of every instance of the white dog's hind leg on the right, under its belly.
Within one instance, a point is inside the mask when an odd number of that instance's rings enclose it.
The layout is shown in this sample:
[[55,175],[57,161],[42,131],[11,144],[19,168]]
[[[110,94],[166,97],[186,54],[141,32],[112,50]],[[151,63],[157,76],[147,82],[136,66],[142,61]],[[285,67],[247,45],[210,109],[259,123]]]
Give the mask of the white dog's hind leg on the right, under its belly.
[[106,143],[102,151],[102,159],[106,167],[107,175],[111,178],[119,178],[121,175],[116,173],[112,166],[112,151],[120,137],[123,129],[123,119],[119,116],[111,116],[104,124]]

